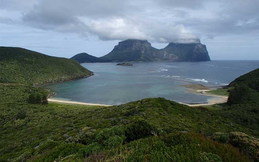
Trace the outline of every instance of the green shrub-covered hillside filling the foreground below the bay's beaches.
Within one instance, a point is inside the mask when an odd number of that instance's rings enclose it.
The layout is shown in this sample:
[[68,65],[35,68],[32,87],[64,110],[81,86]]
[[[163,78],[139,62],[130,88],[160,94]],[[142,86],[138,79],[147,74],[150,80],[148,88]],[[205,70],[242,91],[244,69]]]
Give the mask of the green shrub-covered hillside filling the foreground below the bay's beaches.
[[[21,84],[1,84],[0,90],[4,92],[0,93],[0,97],[4,98],[0,109],[2,161],[61,161],[63,158],[63,161],[82,161],[85,158],[89,161],[116,161],[118,158],[121,161],[142,161],[143,158],[149,161],[170,161],[171,158],[198,161],[207,156],[224,161],[249,161],[233,146],[215,143],[207,137],[215,132],[235,131],[259,137],[256,123],[247,126],[247,123],[234,118],[234,110],[219,110],[212,106],[210,109],[191,108],[164,98],[144,99],[112,107],[57,103],[43,105],[31,104],[28,100],[31,93],[46,93],[43,89]],[[232,118],[225,117],[231,113]],[[252,113],[247,117],[251,117]],[[256,113],[253,115],[256,116]],[[133,133],[133,136],[129,136],[134,129],[128,129],[131,130],[128,133],[125,129],[130,125],[135,128],[138,124],[132,122],[141,119],[152,123],[152,126],[144,126],[144,130],[148,130],[147,135],[138,137],[137,133]],[[116,130],[113,132],[122,130],[122,133],[111,133],[113,129]],[[138,132],[143,135],[144,130]],[[153,133],[150,134],[151,131]],[[132,138],[127,140],[127,137]],[[189,144],[179,138],[188,139]],[[171,144],[168,145],[166,141]],[[200,147],[197,147],[198,144]],[[219,147],[222,149],[216,149]],[[233,152],[226,153],[226,150]],[[161,152],[167,152],[168,155]],[[53,158],[46,160],[46,157]]]

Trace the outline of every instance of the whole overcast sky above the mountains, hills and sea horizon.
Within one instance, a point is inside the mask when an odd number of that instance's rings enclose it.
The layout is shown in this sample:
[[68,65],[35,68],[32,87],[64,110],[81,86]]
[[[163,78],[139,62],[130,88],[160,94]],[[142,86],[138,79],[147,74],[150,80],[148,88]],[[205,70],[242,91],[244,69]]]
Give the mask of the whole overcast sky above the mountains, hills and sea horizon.
[[70,58],[119,41],[200,39],[211,59],[259,59],[259,0],[0,0],[0,46]]

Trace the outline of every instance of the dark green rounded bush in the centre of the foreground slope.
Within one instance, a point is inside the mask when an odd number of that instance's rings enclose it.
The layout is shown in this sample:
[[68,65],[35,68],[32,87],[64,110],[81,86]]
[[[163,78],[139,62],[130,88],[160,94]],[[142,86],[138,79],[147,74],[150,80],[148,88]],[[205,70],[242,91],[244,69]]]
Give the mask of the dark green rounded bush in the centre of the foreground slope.
[[127,141],[156,135],[157,129],[147,120],[138,119],[126,126],[125,136]]

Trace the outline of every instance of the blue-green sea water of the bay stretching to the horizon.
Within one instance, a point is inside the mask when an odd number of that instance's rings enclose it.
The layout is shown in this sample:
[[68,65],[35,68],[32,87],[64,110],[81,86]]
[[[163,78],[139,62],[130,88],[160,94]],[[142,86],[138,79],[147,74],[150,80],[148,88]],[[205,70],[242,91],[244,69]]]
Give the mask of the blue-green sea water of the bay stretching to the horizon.
[[185,103],[206,103],[213,97],[187,91],[183,84],[228,85],[235,78],[259,68],[259,60],[213,60],[209,62],[85,63],[94,76],[46,85],[57,100],[119,105],[149,97]]

